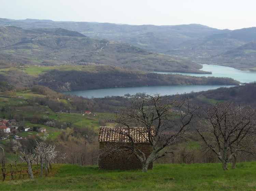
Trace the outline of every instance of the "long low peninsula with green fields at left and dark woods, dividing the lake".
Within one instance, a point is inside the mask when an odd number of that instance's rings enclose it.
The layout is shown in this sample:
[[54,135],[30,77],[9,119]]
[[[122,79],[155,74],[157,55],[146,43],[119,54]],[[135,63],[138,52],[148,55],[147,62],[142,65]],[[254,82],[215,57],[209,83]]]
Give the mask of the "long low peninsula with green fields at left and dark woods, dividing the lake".
[[237,85],[231,78],[158,74],[109,66],[18,66],[0,69],[0,81],[16,88],[42,85],[55,91],[158,85]]

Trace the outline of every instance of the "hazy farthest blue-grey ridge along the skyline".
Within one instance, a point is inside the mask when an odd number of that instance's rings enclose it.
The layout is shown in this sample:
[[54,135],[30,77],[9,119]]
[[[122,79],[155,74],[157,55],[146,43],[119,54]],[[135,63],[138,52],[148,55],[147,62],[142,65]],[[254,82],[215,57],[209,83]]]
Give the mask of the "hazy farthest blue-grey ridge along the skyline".
[[200,24],[155,26],[93,22],[55,22],[51,20],[0,19],[0,26],[15,25],[24,29],[63,28],[80,32],[91,38],[111,39],[148,51],[165,53],[184,41],[228,32]]

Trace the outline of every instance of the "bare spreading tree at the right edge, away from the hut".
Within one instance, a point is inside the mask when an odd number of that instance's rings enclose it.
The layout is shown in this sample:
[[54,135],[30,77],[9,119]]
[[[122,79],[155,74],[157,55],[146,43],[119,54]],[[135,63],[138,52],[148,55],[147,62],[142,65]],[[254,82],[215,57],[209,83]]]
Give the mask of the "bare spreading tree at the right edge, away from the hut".
[[239,152],[255,153],[255,147],[250,147],[255,136],[255,108],[224,102],[203,111],[202,128],[197,131],[221,160],[223,170],[228,170],[232,157],[235,167]]

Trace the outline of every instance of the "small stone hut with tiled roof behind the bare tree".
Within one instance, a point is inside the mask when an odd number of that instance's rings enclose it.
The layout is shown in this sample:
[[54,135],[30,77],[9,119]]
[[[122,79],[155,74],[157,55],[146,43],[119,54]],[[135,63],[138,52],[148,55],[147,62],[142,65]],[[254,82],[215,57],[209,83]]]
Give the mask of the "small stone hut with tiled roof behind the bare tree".
[[[128,133],[129,132],[129,133]],[[152,134],[154,133],[152,129]],[[146,157],[152,152],[151,144],[148,141],[147,132],[143,127],[133,128],[115,128],[115,127],[100,127],[99,131],[99,168],[100,169],[142,169],[142,164],[139,159],[126,149],[125,146],[131,146],[131,136],[135,146],[145,153]],[[148,169],[152,169],[153,163]]]

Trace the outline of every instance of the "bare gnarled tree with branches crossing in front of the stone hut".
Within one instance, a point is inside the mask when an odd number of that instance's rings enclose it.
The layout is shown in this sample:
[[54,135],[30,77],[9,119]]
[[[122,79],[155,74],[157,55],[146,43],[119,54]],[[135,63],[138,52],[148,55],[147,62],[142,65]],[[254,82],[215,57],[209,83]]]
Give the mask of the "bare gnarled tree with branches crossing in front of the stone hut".
[[[173,100],[167,100],[159,94],[133,98],[129,107],[119,110],[115,119],[112,119],[118,124],[116,129],[128,129],[118,133],[125,136],[129,144],[121,145],[117,142],[112,152],[120,149],[131,151],[141,162],[142,172],[147,172],[150,163],[170,153],[170,145],[189,129],[195,110],[197,108],[188,104],[188,98],[180,99],[178,96]],[[134,132],[132,126],[144,127],[136,131],[143,131],[139,134],[146,135],[152,148],[150,155],[147,156],[136,144],[137,138],[130,134]]]

